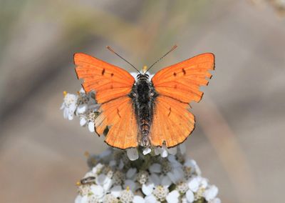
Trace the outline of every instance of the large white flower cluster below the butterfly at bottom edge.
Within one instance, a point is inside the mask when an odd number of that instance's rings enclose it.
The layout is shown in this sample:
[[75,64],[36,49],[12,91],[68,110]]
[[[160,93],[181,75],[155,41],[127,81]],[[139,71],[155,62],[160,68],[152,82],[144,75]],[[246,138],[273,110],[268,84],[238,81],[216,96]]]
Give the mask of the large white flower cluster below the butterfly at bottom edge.
[[78,182],[76,203],[118,202],[221,202],[217,187],[210,185],[195,160],[185,157],[181,147],[175,155],[146,155],[138,149],[138,159],[130,161],[128,152],[107,149],[89,156],[88,172]]

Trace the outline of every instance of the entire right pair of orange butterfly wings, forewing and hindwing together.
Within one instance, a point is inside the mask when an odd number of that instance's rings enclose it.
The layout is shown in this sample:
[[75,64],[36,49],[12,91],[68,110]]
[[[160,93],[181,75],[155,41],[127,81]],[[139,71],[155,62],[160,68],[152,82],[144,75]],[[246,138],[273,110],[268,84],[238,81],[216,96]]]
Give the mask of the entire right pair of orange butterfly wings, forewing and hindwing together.
[[200,54],[155,74],[152,84],[158,93],[155,99],[150,140],[153,146],[175,147],[185,141],[195,128],[195,117],[189,112],[191,101],[199,102],[214,70],[214,54]]

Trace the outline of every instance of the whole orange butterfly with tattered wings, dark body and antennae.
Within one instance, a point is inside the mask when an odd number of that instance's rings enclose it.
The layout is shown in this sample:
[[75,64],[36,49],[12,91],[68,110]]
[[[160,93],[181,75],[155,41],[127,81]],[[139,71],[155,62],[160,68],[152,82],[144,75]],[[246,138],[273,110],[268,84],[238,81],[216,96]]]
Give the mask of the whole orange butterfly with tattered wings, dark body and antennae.
[[119,149],[170,148],[184,142],[195,128],[190,102],[202,99],[199,86],[206,86],[212,77],[214,54],[199,54],[167,66],[152,79],[148,69],[139,71],[135,80],[128,71],[83,53],[74,54],[74,64],[78,79],[84,80],[83,89],[95,91],[100,104],[95,132],[100,136],[108,128],[107,144]]

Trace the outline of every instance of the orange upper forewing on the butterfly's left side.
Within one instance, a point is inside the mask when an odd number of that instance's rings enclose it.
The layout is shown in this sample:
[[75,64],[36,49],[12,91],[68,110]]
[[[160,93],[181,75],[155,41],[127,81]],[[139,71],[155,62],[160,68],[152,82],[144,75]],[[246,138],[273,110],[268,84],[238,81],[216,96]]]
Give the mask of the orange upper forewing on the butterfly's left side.
[[86,92],[95,90],[98,104],[130,93],[135,79],[128,71],[87,54],[75,54],[76,74]]

